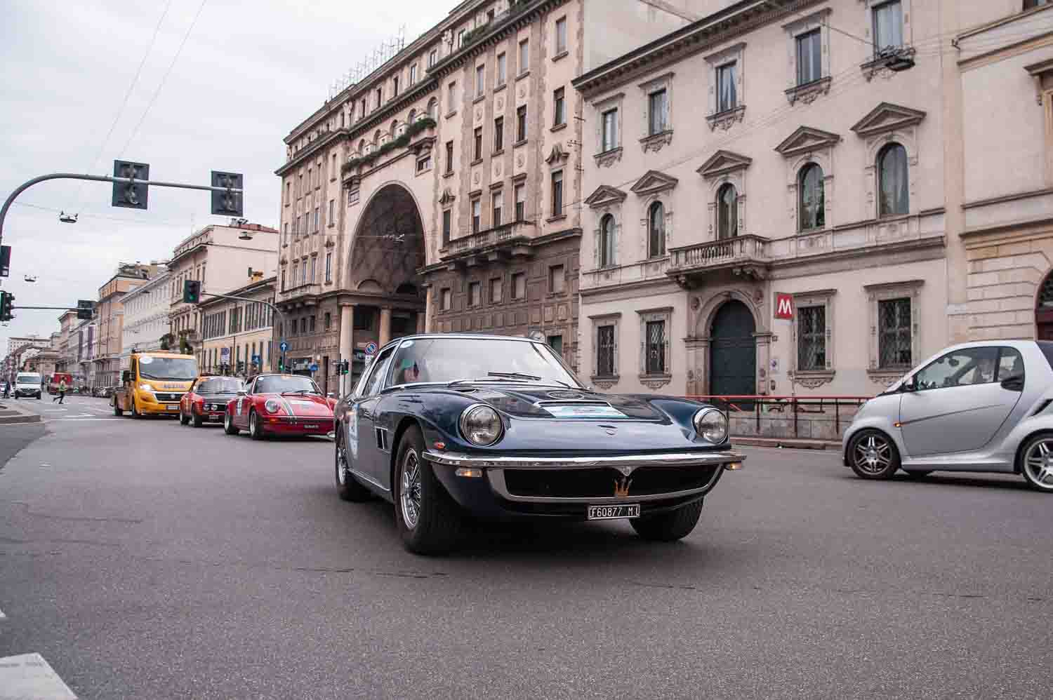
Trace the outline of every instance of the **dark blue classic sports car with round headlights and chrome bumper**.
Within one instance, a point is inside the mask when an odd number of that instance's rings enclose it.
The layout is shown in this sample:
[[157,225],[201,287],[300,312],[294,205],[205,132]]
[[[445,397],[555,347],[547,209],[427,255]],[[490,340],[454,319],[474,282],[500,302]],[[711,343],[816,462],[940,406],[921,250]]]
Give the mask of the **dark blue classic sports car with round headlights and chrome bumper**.
[[549,345],[524,338],[395,340],[335,419],[340,497],[393,502],[418,554],[449,549],[465,515],[629,518],[641,537],[677,540],[743,459],[716,408],[589,391]]

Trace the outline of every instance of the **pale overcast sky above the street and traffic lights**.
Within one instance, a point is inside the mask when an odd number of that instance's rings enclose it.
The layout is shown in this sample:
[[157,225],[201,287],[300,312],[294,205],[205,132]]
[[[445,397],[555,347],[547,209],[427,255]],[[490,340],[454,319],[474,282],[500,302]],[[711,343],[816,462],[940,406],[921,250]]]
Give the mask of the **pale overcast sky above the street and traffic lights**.
[[[244,173],[245,218],[277,226],[282,138],[400,25],[409,43],[455,4],[0,0],[0,200],[46,173],[112,175],[120,157],[150,163],[158,180],[207,184],[212,169]],[[167,259],[192,231],[226,221],[208,214],[203,192],[155,188],[145,212],[110,199],[110,184],[81,181],[19,196],[3,227],[11,277],[0,282],[16,306],[97,299],[118,262]],[[60,223],[59,211],[79,213],[79,222]],[[59,314],[16,312],[0,326],[0,356],[11,336],[58,331]]]

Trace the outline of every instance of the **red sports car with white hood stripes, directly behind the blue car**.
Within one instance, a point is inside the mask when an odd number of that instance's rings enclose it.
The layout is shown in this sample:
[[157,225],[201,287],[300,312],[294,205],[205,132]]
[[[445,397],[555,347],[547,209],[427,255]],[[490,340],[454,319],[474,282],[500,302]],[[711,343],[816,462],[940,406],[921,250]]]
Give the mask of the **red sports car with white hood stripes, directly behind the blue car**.
[[223,429],[227,435],[246,429],[254,440],[269,435],[329,435],[335,405],[310,377],[257,375],[226,403]]

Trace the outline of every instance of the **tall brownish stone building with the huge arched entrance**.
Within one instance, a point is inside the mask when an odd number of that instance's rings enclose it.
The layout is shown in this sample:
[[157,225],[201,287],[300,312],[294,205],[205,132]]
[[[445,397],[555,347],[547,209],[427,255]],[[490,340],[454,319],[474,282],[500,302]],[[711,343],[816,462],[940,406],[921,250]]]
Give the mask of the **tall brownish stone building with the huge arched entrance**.
[[[349,359],[353,380],[371,343],[471,331],[534,334],[576,363],[572,80],[694,4],[468,0],[294,128],[278,303],[317,331],[286,337],[290,354]],[[631,28],[590,45],[612,17]]]

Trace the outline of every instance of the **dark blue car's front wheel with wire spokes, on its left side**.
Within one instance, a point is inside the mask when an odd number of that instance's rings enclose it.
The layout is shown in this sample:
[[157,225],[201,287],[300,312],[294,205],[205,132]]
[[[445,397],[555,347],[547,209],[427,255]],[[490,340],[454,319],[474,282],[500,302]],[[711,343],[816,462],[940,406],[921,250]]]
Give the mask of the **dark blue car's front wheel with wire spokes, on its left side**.
[[395,468],[395,521],[402,544],[414,554],[444,554],[460,536],[457,504],[432,472],[424,438],[413,426],[402,435]]

